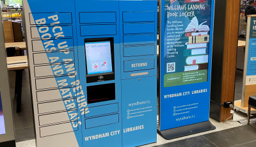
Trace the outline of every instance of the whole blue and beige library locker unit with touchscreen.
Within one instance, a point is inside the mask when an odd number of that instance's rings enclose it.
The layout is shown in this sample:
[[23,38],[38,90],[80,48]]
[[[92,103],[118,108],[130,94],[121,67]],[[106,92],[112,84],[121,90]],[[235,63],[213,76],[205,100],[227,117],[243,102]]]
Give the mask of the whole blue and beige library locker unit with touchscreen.
[[157,1],[24,1],[36,146],[157,135]]

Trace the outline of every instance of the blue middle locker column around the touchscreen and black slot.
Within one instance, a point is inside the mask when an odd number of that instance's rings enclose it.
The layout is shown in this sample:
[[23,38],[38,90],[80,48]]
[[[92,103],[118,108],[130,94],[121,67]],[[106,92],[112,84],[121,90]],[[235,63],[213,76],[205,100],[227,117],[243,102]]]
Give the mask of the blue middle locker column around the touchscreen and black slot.
[[[81,116],[83,146],[122,146],[122,111],[120,81],[120,29],[119,1],[76,0],[77,44],[79,72],[83,87],[115,83],[115,100],[88,104],[90,112]],[[86,81],[84,40],[88,38],[113,38],[115,55],[115,80]],[[100,93],[101,91],[97,91]],[[88,95],[86,95],[88,100]]]

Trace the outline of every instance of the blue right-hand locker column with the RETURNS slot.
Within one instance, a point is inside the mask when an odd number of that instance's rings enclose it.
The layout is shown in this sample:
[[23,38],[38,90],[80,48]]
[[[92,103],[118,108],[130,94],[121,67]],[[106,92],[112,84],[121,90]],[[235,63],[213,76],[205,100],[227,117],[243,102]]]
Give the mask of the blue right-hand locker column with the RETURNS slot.
[[157,1],[120,1],[123,146],[157,140]]

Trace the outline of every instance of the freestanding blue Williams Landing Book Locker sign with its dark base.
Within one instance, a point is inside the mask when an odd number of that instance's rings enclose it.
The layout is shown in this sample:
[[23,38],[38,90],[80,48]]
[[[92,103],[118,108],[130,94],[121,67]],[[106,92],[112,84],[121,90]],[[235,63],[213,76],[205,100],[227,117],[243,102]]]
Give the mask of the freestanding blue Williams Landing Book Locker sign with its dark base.
[[160,117],[166,139],[214,129],[209,122],[214,0],[162,0]]

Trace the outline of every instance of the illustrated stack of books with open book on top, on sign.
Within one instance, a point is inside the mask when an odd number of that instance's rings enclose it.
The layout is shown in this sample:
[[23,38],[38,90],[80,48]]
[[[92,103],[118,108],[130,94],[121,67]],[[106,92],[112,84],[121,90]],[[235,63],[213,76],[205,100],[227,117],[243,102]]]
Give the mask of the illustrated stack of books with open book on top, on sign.
[[185,36],[189,38],[187,49],[184,50],[184,56],[187,57],[185,72],[208,69],[207,43],[209,43],[210,28],[204,25],[205,22],[199,24],[198,19],[194,17],[185,30]]

